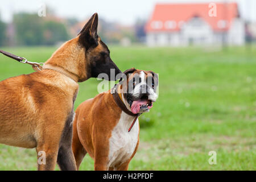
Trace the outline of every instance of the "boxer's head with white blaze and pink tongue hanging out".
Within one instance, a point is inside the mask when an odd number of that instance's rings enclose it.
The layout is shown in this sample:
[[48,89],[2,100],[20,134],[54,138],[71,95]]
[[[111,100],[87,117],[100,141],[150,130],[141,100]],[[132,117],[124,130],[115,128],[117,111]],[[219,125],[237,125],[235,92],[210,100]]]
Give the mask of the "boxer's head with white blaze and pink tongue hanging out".
[[120,84],[123,96],[134,114],[148,112],[158,98],[158,75],[152,71],[127,69],[123,72]]

